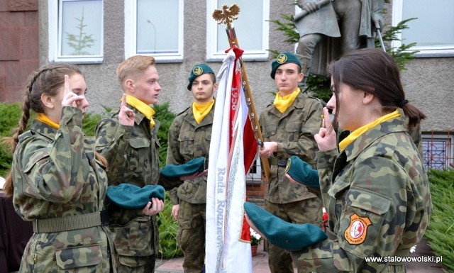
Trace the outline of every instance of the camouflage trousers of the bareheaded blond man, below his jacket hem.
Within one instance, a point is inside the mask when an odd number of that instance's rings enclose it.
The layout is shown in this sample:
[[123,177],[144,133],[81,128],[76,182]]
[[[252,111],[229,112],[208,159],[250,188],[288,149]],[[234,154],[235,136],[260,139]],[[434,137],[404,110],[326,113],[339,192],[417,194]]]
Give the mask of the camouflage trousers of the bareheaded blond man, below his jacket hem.
[[130,257],[116,255],[117,273],[155,273],[156,255]]

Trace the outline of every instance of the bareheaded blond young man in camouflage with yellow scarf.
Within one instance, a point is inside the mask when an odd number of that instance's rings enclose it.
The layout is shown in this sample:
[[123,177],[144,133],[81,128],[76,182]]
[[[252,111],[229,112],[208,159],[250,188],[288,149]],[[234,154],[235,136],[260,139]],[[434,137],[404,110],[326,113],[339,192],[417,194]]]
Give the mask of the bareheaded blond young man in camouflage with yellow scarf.
[[[108,162],[109,186],[155,185],[160,177],[159,121],[153,118],[155,111],[150,105],[157,103],[161,91],[155,59],[129,57],[118,65],[116,73],[124,92],[121,107],[96,126],[96,150]],[[143,208],[116,206],[109,210],[118,273],[155,272],[159,251],[156,214],[163,208],[163,201],[154,197]]]

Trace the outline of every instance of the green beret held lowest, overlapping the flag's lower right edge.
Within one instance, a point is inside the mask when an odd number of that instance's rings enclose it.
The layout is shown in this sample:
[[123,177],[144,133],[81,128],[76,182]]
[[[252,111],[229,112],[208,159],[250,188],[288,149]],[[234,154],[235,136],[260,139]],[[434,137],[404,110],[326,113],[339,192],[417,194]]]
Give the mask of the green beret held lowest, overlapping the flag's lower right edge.
[[286,222],[250,202],[245,202],[244,209],[260,233],[270,243],[284,250],[302,250],[327,238],[323,230],[314,224]]

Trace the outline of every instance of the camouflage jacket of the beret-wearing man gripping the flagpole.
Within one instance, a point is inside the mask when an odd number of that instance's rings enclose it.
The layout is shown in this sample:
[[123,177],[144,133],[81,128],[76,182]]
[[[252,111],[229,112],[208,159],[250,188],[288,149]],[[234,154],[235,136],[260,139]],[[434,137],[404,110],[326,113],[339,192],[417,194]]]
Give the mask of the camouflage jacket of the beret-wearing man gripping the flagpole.
[[[318,147],[314,135],[319,133],[322,113],[320,101],[302,92],[284,113],[279,112],[274,104],[267,106],[260,114],[260,127],[265,141],[277,142],[278,150],[274,157],[277,160],[287,160],[292,155],[297,155],[315,165]],[[306,186],[289,182],[285,177],[285,165],[277,166],[271,162],[270,169],[265,200],[287,204],[316,196]]]

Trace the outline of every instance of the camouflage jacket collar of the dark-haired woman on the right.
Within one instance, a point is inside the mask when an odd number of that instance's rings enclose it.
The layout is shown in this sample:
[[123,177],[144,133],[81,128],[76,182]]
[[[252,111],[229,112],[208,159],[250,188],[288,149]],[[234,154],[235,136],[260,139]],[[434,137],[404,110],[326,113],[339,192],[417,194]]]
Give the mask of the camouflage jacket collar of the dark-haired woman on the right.
[[393,118],[392,120],[384,121],[383,123],[378,124],[377,126],[360,135],[353,143],[351,143],[353,145],[350,144],[345,147],[344,152],[347,157],[346,160],[350,161],[355,157],[358,157],[358,155],[360,155],[363,150],[365,150],[378,138],[381,138],[384,135],[399,132],[406,133],[404,118],[404,116],[401,116],[400,118]]

